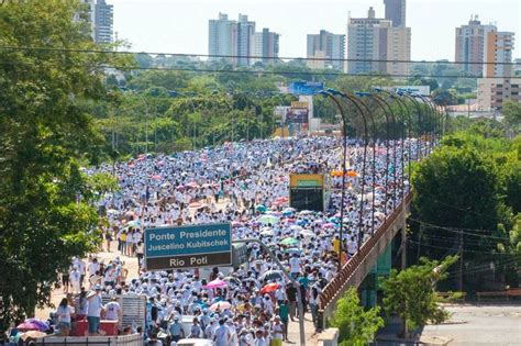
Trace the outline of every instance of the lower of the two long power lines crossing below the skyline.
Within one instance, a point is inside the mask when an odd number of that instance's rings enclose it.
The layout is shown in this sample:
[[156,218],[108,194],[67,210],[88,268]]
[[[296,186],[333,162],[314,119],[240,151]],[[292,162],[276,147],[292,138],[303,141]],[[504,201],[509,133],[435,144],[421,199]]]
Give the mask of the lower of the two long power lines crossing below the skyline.
[[[29,63],[29,62],[0,62],[0,65],[9,66],[40,66],[41,64]],[[64,67],[62,64],[52,63],[47,66]],[[186,71],[186,72],[209,72],[209,74],[244,74],[244,75],[274,75],[274,76],[350,76],[350,77],[387,77],[387,78],[462,78],[462,79],[496,79],[496,78],[507,78],[507,77],[473,77],[473,76],[444,76],[444,75],[397,75],[397,74],[384,74],[384,72],[372,72],[372,74],[351,74],[351,72],[324,72],[324,71],[267,71],[267,70],[236,70],[236,69],[211,69],[211,68],[181,68],[181,67],[130,67],[130,66],[120,66],[120,65],[87,65],[87,64],[75,64],[67,65],[67,67],[85,67],[85,68],[114,68],[119,70],[158,70],[158,71]]]

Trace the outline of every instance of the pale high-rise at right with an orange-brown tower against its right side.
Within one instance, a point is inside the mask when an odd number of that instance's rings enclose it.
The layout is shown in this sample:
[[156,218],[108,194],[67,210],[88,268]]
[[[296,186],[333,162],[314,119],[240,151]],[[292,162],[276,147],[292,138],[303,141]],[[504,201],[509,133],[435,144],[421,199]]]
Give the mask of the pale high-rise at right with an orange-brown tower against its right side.
[[461,64],[461,69],[472,75],[481,75],[487,56],[488,34],[495,31],[495,25],[481,24],[477,15],[470,18],[467,25],[456,27],[456,62],[473,63]]

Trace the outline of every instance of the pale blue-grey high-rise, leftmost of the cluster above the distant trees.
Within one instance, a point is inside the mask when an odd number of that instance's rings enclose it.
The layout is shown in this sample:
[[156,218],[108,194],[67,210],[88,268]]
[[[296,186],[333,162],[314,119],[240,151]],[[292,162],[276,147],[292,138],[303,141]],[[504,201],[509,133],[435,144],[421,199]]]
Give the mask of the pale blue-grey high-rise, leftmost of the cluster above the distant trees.
[[[228,14],[219,13],[218,20],[209,21],[208,54],[232,56],[236,53],[237,24],[228,19]],[[221,57],[210,57],[220,59]],[[231,58],[229,58],[231,60]]]

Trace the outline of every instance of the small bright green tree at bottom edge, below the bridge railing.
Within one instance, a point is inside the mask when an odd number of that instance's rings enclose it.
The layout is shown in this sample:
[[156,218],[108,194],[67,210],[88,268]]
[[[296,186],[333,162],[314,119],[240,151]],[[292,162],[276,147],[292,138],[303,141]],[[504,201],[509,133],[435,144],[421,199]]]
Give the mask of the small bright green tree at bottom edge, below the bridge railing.
[[340,345],[367,345],[384,326],[380,306],[364,311],[356,289],[350,288],[339,299],[331,325],[340,330]]

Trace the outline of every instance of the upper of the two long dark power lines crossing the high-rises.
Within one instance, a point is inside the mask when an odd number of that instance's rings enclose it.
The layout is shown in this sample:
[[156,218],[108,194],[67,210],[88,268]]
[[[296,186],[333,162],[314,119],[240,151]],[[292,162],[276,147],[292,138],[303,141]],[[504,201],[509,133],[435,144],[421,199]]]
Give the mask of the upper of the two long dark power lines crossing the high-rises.
[[[259,56],[259,55],[225,55],[225,54],[191,54],[191,53],[165,53],[165,52],[133,52],[133,51],[103,51],[103,49],[79,49],[63,47],[21,47],[0,46],[0,49],[9,51],[41,51],[41,52],[69,52],[92,54],[120,54],[120,55],[167,55],[179,57],[207,57],[207,58],[236,58],[236,59],[265,59],[265,60],[304,60],[304,62],[347,62],[347,63],[401,63],[401,64],[439,64],[439,65],[506,65],[514,66],[516,63],[505,62],[440,62],[440,60],[404,60],[404,59],[366,59],[366,58],[329,58],[329,57],[296,57],[296,56]],[[476,77],[476,76],[474,76]]]

